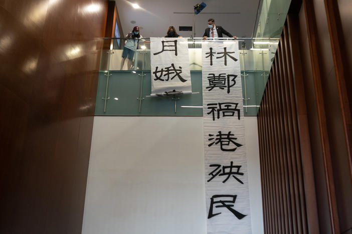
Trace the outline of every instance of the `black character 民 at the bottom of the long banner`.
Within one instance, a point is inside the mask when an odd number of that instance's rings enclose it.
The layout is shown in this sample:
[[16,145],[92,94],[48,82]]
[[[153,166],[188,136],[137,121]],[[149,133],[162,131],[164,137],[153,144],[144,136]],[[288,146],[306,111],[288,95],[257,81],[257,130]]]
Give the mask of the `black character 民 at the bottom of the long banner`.
[[[237,195],[213,195],[210,198],[210,207],[209,207],[208,219],[212,218],[212,217],[214,217],[214,216],[216,216],[218,214],[221,214],[221,212],[213,213],[214,204],[218,204],[218,205],[215,205],[216,208],[221,208],[221,207],[227,208],[238,219],[242,219],[245,216],[247,216],[247,214],[240,213],[237,210],[232,208],[232,207],[235,206],[234,204],[235,204],[236,198],[237,198]],[[226,200],[226,199],[228,199],[228,200]]]

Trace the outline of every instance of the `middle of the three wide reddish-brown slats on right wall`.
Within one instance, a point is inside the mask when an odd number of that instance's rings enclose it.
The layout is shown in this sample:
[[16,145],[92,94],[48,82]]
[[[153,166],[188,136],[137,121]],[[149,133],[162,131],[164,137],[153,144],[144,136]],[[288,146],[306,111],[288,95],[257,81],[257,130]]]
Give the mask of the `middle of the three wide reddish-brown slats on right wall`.
[[307,34],[309,42],[309,52],[311,57],[313,83],[315,89],[315,98],[317,104],[318,124],[320,129],[320,141],[322,147],[322,157],[324,162],[324,172],[326,181],[326,193],[328,198],[329,216],[331,224],[331,232],[333,234],[340,233],[337,204],[335,196],[335,186],[333,182],[331,153],[329,139],[327,133],[327,121],[324,107],[324,94],[321,84],[321,73],[319,65],[319,53],[316,41],[316,23],[313,3],[309,0],[303,0],[303,7],[306,17]]

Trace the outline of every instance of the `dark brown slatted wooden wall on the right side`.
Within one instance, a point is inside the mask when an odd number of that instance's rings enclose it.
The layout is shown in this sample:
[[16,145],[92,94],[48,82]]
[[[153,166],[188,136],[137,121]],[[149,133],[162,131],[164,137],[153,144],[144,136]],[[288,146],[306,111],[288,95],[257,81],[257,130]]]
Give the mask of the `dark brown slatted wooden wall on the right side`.
[[338,3],[292,0],[283,27],[258,112],[263,212],[274,215],[265,233],[352,227],[351,54],[341,52],[348,29]]

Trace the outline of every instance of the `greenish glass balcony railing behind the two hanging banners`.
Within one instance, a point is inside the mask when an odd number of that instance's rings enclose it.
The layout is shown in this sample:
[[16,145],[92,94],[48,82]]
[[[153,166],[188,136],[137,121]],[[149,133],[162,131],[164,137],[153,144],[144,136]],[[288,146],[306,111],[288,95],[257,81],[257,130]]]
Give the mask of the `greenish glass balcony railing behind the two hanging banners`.
[[[149,38],[143,38],[146,41]],[[213,39],[213,38],[212,38]],[[233,43],[233,38],[214,38]],[[122,60],[123,38],[102,38],[96,115],[202,115],[202,44],[188,38],[193,94],[150,97],[150,44],[138,43],[130,67]],[[238,38],[245,115],[256,115],[277,38]]]

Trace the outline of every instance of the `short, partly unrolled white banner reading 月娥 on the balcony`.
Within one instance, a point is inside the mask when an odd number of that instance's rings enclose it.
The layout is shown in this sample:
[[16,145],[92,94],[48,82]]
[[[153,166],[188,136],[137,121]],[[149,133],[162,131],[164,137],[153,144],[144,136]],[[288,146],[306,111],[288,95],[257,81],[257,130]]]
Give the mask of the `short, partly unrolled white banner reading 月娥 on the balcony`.
[[150,38],[151,94],[169,91],[191,93],[187,38]]

